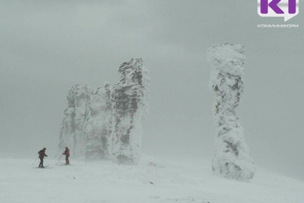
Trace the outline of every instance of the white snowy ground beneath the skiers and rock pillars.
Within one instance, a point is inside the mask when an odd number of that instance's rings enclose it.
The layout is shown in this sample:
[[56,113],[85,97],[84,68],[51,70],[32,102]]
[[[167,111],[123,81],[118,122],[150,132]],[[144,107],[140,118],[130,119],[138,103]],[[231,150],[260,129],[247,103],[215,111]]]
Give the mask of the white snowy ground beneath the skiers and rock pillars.
[[46,157],[45,165],[54,168],[41,169],[33,160],[1,159],[0,202],[304,202],[304,182],[260,169],[249,182],[226,180],[212,176],[209,160],[144,156],[136,166],[70,161],[74,165],[61,166]]

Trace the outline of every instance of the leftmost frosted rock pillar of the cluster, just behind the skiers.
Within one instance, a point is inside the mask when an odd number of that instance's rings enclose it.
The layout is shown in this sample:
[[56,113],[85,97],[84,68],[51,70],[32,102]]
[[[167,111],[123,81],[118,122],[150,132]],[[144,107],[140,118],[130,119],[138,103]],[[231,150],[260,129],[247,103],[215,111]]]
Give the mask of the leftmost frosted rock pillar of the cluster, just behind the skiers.
[[68,108],[64,111],[60,132],[59,150],[68,146],[74,157],[85,154],[87,139],[83,134],[83,126],[88,116],[90,89],[87,85],[73,85],[67,95]]

